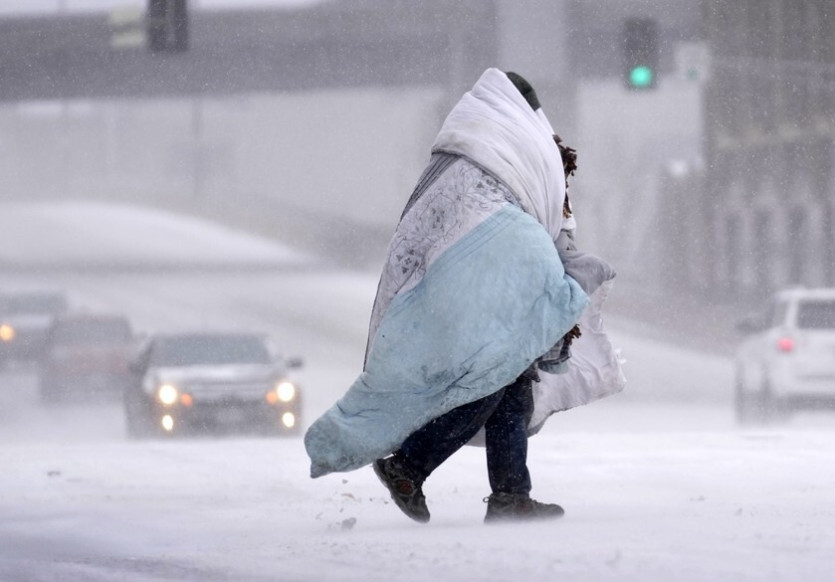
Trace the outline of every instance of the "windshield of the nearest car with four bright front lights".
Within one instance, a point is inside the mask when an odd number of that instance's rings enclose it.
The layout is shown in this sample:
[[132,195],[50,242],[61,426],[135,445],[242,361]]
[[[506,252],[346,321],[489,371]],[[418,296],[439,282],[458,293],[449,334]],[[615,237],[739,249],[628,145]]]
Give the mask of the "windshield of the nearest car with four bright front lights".
[[268,364],[264,342],[253,336],[190,336],[158,340],[151,354],[154,366]]

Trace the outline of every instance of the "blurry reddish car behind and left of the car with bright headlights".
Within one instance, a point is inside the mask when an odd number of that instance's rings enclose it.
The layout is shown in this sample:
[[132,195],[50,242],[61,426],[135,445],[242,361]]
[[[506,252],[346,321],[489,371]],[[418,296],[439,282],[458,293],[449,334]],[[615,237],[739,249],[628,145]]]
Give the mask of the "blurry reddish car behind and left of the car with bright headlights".
[[130,379],[133,342],[130,322],[121,315],[56,317],[46,332],[41,359],[41,400],[118,400]]

